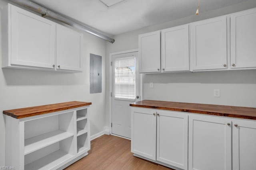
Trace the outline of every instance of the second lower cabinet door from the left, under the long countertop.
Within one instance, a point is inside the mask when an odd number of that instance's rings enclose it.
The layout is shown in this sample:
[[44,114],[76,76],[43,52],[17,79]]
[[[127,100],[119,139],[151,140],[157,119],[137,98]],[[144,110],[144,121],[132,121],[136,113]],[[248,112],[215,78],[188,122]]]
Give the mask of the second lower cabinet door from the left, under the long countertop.
[[187,170],[188,114],[157,111],[156,143],[156,160]]

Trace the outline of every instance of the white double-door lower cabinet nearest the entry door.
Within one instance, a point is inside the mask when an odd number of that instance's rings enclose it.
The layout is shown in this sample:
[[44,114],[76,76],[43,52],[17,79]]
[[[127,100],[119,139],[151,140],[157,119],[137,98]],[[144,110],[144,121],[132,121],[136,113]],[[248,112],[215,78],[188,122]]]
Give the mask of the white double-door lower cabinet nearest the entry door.
[[188,115],[132,107],[134,154],[165,166],[188,169]]

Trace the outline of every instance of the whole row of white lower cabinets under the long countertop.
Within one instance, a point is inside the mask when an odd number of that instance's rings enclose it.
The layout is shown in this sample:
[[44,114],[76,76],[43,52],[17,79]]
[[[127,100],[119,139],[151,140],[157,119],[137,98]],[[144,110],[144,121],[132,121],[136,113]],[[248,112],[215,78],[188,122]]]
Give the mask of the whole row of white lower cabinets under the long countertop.
[[131,152],[173,169],[253,170],[256,121],[132,107]]

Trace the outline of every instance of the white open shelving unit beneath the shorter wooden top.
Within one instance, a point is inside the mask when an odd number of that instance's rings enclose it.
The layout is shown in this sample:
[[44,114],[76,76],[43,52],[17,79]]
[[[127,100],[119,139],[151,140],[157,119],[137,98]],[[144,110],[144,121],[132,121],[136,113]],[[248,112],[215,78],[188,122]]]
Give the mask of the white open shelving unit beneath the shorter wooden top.
[[16,119],[6,116],[6,166],[56,170],[90,150],[89,106]]

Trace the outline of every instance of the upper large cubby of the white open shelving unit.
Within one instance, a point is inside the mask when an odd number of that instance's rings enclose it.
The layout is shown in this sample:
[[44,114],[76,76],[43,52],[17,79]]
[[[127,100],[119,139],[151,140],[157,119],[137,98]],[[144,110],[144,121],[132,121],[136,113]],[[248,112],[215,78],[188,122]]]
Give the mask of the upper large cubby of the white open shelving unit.
[[24,123],[24,155],[74,136],[74,112]]

